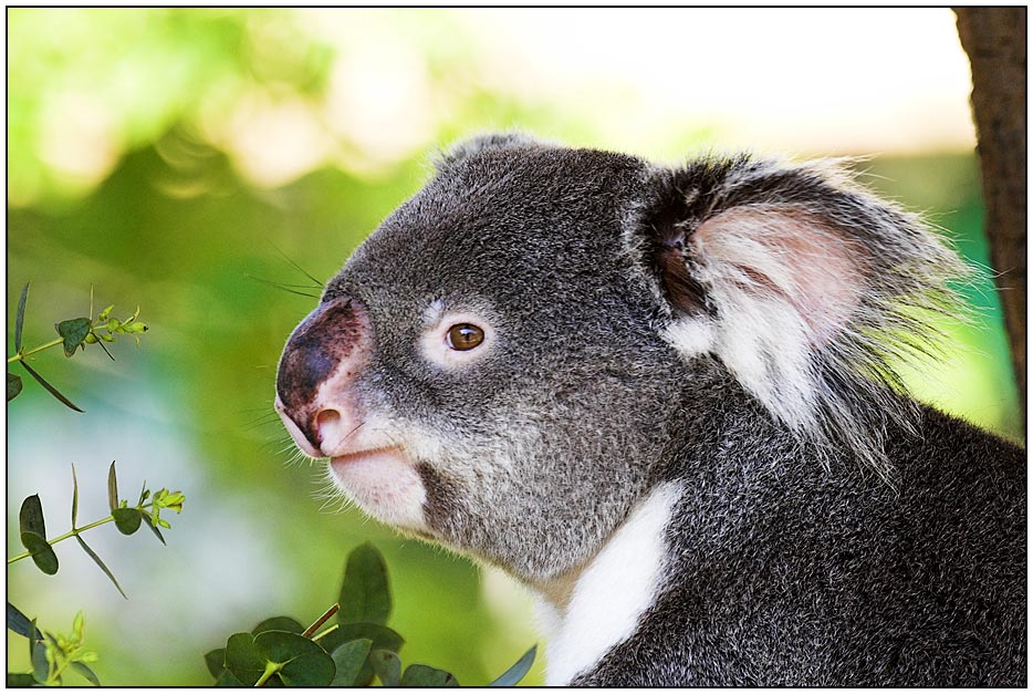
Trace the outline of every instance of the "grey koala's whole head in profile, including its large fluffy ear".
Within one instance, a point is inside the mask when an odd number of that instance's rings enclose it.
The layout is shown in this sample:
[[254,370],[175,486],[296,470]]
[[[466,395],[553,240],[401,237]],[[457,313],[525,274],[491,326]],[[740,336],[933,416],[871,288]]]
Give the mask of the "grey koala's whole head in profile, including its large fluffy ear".
[[655,483],[714,364],[802,439],[878,462],[874,341],[954,267],[832,169],[480,137],[326,284],[275,406],[373,517],[545,582]]

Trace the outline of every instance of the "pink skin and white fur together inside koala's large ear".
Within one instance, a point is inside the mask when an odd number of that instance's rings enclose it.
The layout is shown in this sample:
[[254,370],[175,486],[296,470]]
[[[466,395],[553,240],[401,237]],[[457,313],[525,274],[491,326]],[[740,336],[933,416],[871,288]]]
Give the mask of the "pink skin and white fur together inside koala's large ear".
[[688,256],[716,309],[713,352],[780,419],[814,426],[814,352],[857,308],[858,253],[802,210],[757,205],[705,221]]

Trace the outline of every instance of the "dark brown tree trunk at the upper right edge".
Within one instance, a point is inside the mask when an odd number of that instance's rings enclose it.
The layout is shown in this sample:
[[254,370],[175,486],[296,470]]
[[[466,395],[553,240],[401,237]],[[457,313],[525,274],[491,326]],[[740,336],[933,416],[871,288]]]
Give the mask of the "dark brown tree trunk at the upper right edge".
[[959,8],[954,13],[972,65],[990,260],[1025,408],[1026,8]]

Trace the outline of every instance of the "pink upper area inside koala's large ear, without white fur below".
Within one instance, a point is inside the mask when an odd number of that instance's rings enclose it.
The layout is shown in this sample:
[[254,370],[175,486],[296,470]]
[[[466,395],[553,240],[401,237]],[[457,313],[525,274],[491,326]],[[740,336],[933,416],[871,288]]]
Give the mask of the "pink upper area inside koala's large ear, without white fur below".
[[744,299],[781,301],[822,346],[860,302],[865,267],[856,245],[826,220],[793,207],[731,209],[692,235],[708,282],[730,281]]

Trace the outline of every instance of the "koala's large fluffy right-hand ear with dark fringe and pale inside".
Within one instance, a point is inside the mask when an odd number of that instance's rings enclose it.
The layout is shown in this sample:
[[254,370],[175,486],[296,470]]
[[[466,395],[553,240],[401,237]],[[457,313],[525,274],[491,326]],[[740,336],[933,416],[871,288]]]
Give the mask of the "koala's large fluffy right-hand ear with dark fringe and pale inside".
[[720,359],[804,438],[888,475],[883,425],[909,403],[891,360],[928,352],[930,310],[958,311],[954,252],[829,163],[706,158],[655,185],[643,246],[667,339]]

